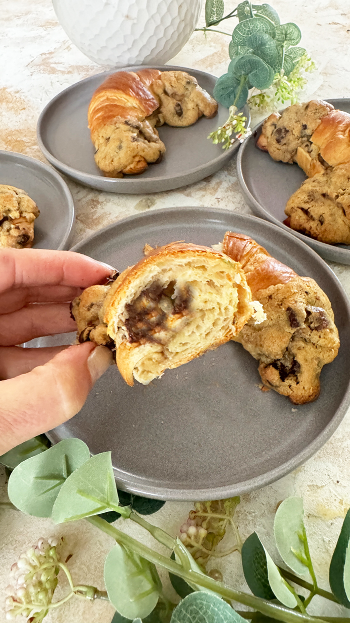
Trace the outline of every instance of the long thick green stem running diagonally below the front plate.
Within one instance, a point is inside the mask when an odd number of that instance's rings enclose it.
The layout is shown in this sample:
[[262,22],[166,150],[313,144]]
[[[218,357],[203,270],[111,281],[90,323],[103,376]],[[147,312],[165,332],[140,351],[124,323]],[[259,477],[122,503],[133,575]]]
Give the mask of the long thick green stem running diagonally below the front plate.
[[328,619],[320,619],[318,617],[311,617],[308,614],[299,614],[298,612],[287,609],[277,604],[270,604],[265,599],[260,599],[254,595],[249,595],[242,591],[235,591],[234,589],[225,586],[221,582],[217,582],[212,578],[205,576],[205,574],[197,573],[192,569],[186,571],[182,565],[173,561],[170,558],[166,558],[150,549],[143,543],[139,543],[132,536],[127,535],[117,528],[114,528],[108,521],[103,520],[98,516],[86,517],[86,521],[89,521],[92,525],[96,526],[100,530],[103,530],[107,535],[111,536],[117,543],[124,545],[126,548],[136,552],[150,563],[160,564],[163,568],[167,569],[171,573],[183,578],[190,584],[197,584],[205,589],[216,592],[224,599],[237,601],[245,606],[256,609],[262,614],[270,616],[272,619],[277,619],[282,623],[321,623],[321,621],[328,621]]

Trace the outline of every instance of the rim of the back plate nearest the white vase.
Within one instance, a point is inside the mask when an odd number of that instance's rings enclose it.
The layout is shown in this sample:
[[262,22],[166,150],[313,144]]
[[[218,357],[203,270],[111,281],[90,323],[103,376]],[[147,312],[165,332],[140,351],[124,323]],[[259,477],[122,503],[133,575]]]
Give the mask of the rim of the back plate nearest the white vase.
[[[111,69],[111,70],[107,70],[104,72],[100,72],[99,74],[93,74],[91,76],[88,76],[86,78],[83,78],[82,80],[78,80],[78,82],[75,82],[74,84],[70,85],[70,87],[67,87],[65,89],[63,89],[60,93],[57,93],[57,95],[55,95],[50,102],[47,103],[47,105],[45,106],[45,108],[42,110],[42,112],[39,115],[39,119],[37,121],[37,141],[40,147],[40,150],[42,151],[42,153],[44,154],[45,158],[47,158],[48,162],[50,162],[53,166],[55,166],[55,168],[58,169],[58,171],[62,171],[63,173],[65,173],[66,175],[70,176],[72,179],[78,179],[78,181],[81,182],[81,178],[85,177],[86,178],[86,183],[88,183],[88,181],[90,181],[91,183],[95,183],[95,184],[99,184],[101,185],[101,183],[103,183],[103,181],[106,181],[106,185],[107,183],[111,183],[116,187],[115,191],[111,191],[109,190],[109,192],[122,192],[121,188],[124,188],[127,186],[132,186],[133,183],[135,185],[135,183],[143,183],[143,184],[147,184],[147,182],[149,184],[151,183],[160,183],[162,181],[167,181],[170,182],[172,180],[178,180],[179,178],[182,178],[184,176],[184,173],[178,173],[176,175],[171,175],[171,176],[154,176],[152,178],[137,178],[135,179],[134,176],[130,176],[127,178],[106,178],[102,175],[97,175],[97,174],[93,174],[93,173],[86,173],[85,171],[80,171],[79,169],[75,169],[71,166],[69,166],[68,164],[62,163],[60,160],[58,160],[55,156],[52,155],[51,151],[47,148],[47,146],[44,143],[44,140],[42,138],[42,134],[43,134],[43,126],[44,126],[44,119],[45,119],[45,115],[47,115],[48,111],[50,110],[51,107],[53,107],[55,105],[55,103],[58,102],[58,100],[60,100],[60,98],[65,97],[65,95],[67,95],[67,93],[70,93],[71,91],[75,90],[75,88],[78,85],[81,85],[83,83],[86,82],[91,82],[92,80],[94,80],[94,78],[96,77],[101,77],[101,80],[103,79],[103,77],[106,77],[110,74],[115,74],[118,71],[133,71],[133,70],[139,70],[139,69],[159,69],[159,70],[168,70],[168,71],[187,71],[187,72],[193,72],[195,71],[196,74],[200,74],[203,75],[205,77],[210,77],[213,78],[214,80],[217,80],[218,77],[215,76],[214,74],[210,74],[210,72],[205,72],[201,69],[195,69],[194,67],[181,67],[180,65],[128,65],[126,67],[119,67],[118,69]],[[251,123],[251,114],[250,114],[250,110],[249,107],[247,105],[245,105],[245,107],[242,109],[244,110],[244,114],[247,115],[247,120],[248,120],[248,127],[250,126]],[[229,113],[228,113],[229,114]],[[195,124],[193,124],[195,125]],[[216,158],[213,158],[210,160],[210,163],[213,163],[213,166],[216,166],[218,164],[221,164],[221,162],[224,163],[226,162],[226,160],[229,160],[231,158],[231,156],[233,156],[234,153],[236,153],[237,150],[239,150],[239,147],[241,146],[241,143],[239,143],[237,141],[237,143],[235,145],[233,145],[229,150],[223,150],[222,153],[220,153],[218,156],[216,156]],[[206,163],[205,165],[201,164],[200,166],[197,166],[196,168],[190,169],[190,171],[187,172],[188,175],[190,174],[196,174],[198,173],[203,166],[208,166],[209,163]],[[216,169],[218,170],[218,169]],[[78,178],[77,176],[80,176],[80,178]],[[119,184],[119,189],[118,189],[118,184]],[[188,184],[188,182],[186,182],[185,184],[183,184],[184,186]],[[95,187],[93,187],[95,188]],[[178,186],[175,188],[179,188]],[[105,189],[108,192],[108,189]],[[141,192],[141,191],[140,191]],[[152,191],[155,192],[155,191]],[[161,191],[160,191],[161,192]]]

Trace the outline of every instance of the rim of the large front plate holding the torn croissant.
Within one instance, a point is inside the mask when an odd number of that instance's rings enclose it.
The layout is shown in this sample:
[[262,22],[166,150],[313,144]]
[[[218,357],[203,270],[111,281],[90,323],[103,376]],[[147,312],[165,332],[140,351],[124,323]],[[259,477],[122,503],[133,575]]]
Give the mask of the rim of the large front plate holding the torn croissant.
[[[222,208],[216,208],[216,207],[210,207],[210,206],[205,206],[204,209],[207,211],[207,213],[209,211],[211,214],[214,214],[216,216],[224,216],[226,218],[228,217],[228,214],[230,214],[233,217],[233,219],[238,219],[238,221],[240,220],[248,221],[248,222],[250,221],[256,224],[261,224],[261,222],[264,222],[264,227],[267,227],[267,229],[271,229],[272,231],[275,231],[276,234],[281,234],[281,229],[277,227],[274,223],[266,221],[266,220],[263,221],[257,216],[251,216],[250,214],[240,214],[238,212],[229,212]],[[81,247],[82,245],[86,243],[89,244],[91,240],[96,239],[96,237],[99,237],[99,235],[104,235],[109,230],[113,230],[114,228],[118,226],[123,226],[124,224],[135,221],[137,219],[142,221],[145,219],[147,220],[152,219],[152,217],[157,218],[157,215],[160,213],[162,213],[164,216],[165,215],[168,216],[169,211],[175,214],[176,212],[179,212],[179,211],[198,212],[199,210],[202,211],[203,207],[201,206],[178,206],[178,207],[171,207],[171,208],[162,208],[157,211],[147,212],[146,214],[135,214],[135,215],[126,217],[124,219],[121,219],[120,221],[111,223],[108,226],[104,227],[103,229],[99,230],[98,232],[94,232],[94,234],[91,234],[88,238],[81,240],[80,242],[75,244],[74,247],[71,248],[71,250],[75,252],[80,252],[79,247]],[[309,247],[303,240],[295,239],[293,234],[291,234],[288,230],[286,232],[282,232],[282,237],[287,237],[287,239],[292,239],[293,242],[297,242],[297,245],[300,245],[300,247],[306,250],[308,254],[311,254],[311,256],[313,256],[313,259],[315,259],[316,262],[321,266],[321,268],[325,270],[326,275],[329,278],[331,278],[334,286],[339,292],[339,295],[341,295],[344,306],[348,312],[348,317],[350,318],[349,298],[346,295],[346,291],[344,290],[344,287],[342,283],[340,282],[339,278],[336,276],[333,270],[329,267],[329,265],[326,264],[326,262],[320,257],[319,254],[315,252],[315,250],[311,249],[311,247]],[[285,399],[288,400],[287,397]],[[290,404],[292,405],[292,403]],[[320,434],[318,434],[315,437],[315,439],[313,439],[310,442],[310,444],[308,444],[304,449],[298,452],[298,454],[293,456],[291,459],[288,459],[286,462],[278,465],[272,470],[269,470],[269,472],[262,473],[253,478],[244,480],[243,482],[240,482],[240,483],[234,483],[234,485],[223,485],[223,487],[207,487],[207,488],[192,488],[192,489],[187,488],[186,490],[183,490],[182,488],[180,488],[180,485],[178,488],[167,487],[165,485],[160,487],[158,484],[155,485],[153,482],[150,483],[150,480],[147,480],[149,485],[145,486],[144,477],[136,477],[134,475],[130,476],[126,472],[122,472],[121,470],[118,470],[118,468],[114,468],[114,475],[116,475],[117,484],[121,485],[121,488],[123,488],[127,492],[136,493],[137,495],[142,495],[143,497],[148,497],[148,498],[193,501],[193,500],[208,500],[208,499],[214,500],[214,499],[232,497],[234,495],[241,495],[242,493],[247,493],[247,492],[256,490],[258,488],[265,487],[269,485],[270,483],[275,482],[276,480],[279,480],[283,476],[292,472],[293,469],[303,464],[306,460],[310,459],[329,440],[331,435],[338,428],[346,412],[348,411],[349,405],[350,405],[350,377],[349,377],[348,386],[346,388],[346,391],[344,391],[344,396],[343,396],[341,403],[338,406],[338,409],[333,414],[333,416],[331,417],[330,421],[325,426],[325,428],[321,430]],[[57,440],[59,440],[55,438],[54,430],[50,431],[50,437],[53,442],[57,442]]]

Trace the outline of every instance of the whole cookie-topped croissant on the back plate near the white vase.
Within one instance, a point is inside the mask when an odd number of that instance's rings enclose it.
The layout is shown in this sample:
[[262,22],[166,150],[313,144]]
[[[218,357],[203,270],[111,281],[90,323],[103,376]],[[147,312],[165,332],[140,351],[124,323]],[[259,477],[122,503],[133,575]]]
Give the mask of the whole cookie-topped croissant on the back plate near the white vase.
[[187,72],[116,72],[96,89],[88,108],[95,162],[108,177],[142,173],[165,153],[156,125],[188,126],[217,110]]

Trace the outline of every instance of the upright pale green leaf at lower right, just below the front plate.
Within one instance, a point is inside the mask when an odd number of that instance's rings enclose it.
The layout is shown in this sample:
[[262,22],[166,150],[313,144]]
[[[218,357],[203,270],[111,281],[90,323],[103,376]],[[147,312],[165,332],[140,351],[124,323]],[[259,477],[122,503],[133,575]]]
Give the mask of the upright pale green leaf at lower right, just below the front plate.
[[308,574],[303,514],[302,498],[290,497],[279,505],[274,521],[275,541],[280,556],[288,567],[300,576]]

